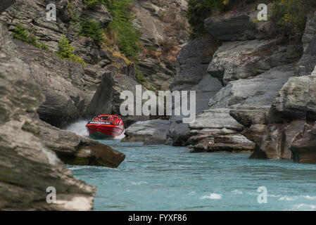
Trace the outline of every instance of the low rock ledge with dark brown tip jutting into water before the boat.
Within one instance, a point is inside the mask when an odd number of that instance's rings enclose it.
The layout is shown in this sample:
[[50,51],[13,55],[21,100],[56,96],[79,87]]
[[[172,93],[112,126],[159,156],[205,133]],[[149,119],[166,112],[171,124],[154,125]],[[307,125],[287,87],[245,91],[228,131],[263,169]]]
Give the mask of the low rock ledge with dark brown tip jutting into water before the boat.
[[125,155],[98,141],[63,131],[46,122],[39,122],[40,136],[47,148],[70,165],[94,165],[117,168]]

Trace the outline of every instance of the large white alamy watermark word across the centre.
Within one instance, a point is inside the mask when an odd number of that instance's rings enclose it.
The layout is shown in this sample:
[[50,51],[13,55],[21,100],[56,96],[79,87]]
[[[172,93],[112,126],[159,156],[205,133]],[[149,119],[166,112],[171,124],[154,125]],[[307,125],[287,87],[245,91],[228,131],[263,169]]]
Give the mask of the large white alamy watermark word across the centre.
[[[156,96],[153,91],[141,93],[141,85],[136,85],[135,88],[135,96],[132,91],[121,92],[120,99],[125,99],[120,105],[121,115],[172,115],[174,99],[174,115],[183,116],[184,123],[191,123],[196,119],[196,91],[158,91]],[[143,104],[143,101],[146,102]]]

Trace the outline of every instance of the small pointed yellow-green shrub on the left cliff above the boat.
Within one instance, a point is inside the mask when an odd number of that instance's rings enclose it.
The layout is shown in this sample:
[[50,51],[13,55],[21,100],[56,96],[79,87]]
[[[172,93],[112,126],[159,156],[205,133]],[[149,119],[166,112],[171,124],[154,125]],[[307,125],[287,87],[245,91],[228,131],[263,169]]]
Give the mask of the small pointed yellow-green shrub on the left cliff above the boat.
[[82,58],[75,55],[75,50],[72,48],[70,41],[65,37],[65,35],[63,35],[63,37],[58,41],[57,56],[65,60],[75,61],[83,66],[86,65]]

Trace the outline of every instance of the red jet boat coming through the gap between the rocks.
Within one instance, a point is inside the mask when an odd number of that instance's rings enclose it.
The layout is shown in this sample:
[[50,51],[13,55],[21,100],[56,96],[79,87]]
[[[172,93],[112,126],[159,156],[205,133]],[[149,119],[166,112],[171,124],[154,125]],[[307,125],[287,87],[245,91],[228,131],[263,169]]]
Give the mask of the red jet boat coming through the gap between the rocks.
[[124,132],[122,119],[117,115],[99,115],[86,125],[89,136],[106,138],[120,136]]

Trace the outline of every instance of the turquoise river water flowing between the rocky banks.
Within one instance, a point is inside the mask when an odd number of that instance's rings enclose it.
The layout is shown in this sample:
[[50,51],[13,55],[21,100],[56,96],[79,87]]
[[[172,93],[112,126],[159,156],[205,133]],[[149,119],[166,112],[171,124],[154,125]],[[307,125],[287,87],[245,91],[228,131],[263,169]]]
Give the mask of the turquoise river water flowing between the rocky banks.
[[[84,135],[82,124],[68,130]],[[68,166],[97,187],[94,210],[316,210],[316,165],[100,142],[126,155],[118,169]],[[260,186],[267,188],[267,203],[258,203]]]

